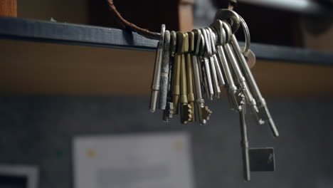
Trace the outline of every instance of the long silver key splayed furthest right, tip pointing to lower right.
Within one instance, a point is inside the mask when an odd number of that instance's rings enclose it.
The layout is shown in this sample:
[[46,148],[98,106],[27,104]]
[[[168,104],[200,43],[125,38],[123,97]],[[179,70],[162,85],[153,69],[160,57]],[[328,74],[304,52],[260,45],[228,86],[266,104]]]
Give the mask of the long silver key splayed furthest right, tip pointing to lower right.
[[258,123],[263,124],[263,122],[267,122],[268,125],[270,126],[270,129],[273,132],[273,135],[275,137],[278,137],[279,132],[275,126],[272,116],[270,115],[270,111],[268,110],[266,101],[260,93],[258,85],[255,82],[255,79],[253,78],[250,68],[248,67],[248,63],[246,63],[246,60],[240,51],[238,41],[234,35],[231,37],[231,45],[233,46],[234,51],[236,51],[238,61],[240,62],[240,66],[243,70],[246,80],[248,80],[248,84],[250,85],[250,90],[253,93],[253,98],[255,98],[255,100],[258,102],[258,110],[259,110]]

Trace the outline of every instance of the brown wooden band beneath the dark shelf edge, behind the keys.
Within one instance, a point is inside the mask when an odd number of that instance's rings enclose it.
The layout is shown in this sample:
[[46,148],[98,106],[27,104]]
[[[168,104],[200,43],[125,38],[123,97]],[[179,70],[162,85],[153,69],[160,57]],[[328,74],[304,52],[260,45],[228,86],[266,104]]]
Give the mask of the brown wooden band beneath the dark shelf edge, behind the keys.
[[[1,94],[148,96],[153,52],[1,41]],[[333,95],[333,67],[258,61],[252,69],[268,97]]]

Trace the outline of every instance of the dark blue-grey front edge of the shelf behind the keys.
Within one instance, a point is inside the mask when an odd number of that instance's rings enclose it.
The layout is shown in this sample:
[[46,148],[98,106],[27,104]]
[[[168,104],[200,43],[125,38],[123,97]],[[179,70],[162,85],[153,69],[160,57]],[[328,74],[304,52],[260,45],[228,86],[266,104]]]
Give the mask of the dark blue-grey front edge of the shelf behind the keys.
[[[0,39],[155,51],[157,40],[117,28],[0,16]],[[258,59],[333,66],[333,53],[251,43]]]

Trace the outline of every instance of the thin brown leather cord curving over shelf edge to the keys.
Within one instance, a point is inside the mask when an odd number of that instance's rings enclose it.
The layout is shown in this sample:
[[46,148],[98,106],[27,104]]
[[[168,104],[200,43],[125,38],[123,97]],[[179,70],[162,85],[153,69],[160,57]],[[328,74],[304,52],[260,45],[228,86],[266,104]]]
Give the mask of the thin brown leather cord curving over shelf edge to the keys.
[[159,33],[154,33],[147,29],[140,28],[139,26],[136,26],[134,23],[127,21],[122,17],[120,12],[117,11],[115,4],[113,4],[113,0],[107,0],[107,2],[109,3],[111,11],[115,14],[115,19],[117,20],[117,23],[119,23],[122,28],[127,28],[131,31],[137,32],[146,38],[159,40]]

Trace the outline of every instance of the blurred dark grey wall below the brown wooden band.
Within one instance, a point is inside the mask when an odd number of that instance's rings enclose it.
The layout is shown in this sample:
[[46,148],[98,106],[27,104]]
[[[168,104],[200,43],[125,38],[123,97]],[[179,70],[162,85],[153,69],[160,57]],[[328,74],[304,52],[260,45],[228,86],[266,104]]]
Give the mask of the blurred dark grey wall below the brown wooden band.
[[275,172],[253,172],[243,182],[238,115],[226,100],[211,104],[206,126],[169,124],[148,110],[149,98],[3,96],[0,98],[0,163],[37,164],[41,187],[72,187],[75,135],[185,130],[190,132],[196,187],[333,187],[333,101],[268,100],[280,129],[248,115],[250,146],[275,147]]

